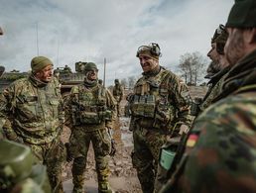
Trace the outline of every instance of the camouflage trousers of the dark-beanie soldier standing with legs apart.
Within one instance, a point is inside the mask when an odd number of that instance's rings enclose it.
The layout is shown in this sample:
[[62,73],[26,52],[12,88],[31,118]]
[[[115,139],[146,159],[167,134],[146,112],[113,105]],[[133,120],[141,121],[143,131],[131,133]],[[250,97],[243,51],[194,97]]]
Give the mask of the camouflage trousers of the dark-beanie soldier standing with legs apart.
[[84,171],[90,143],[92,143],[94,150],[98,190],[99,192],[111,192],[108,183],[110,170],[107,156],[110,152],[111,141],[105,129],[91,132],[84,132],[80,129],[73,130],[69,139],[70,153],[74,157],[72,164],[73,192],[83,192]]

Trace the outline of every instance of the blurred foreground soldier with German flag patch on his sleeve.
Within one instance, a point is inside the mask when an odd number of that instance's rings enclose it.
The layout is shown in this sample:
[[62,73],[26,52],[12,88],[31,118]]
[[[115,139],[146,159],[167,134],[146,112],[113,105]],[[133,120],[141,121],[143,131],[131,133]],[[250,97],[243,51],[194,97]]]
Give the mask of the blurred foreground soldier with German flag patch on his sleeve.
[[162,193],[256,192],[255,18],[255,0],[235,0],[224,48],[232,67],[221,100],[195,120]]

